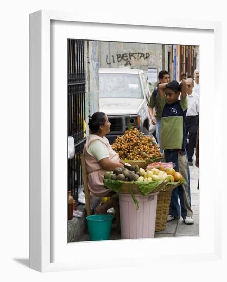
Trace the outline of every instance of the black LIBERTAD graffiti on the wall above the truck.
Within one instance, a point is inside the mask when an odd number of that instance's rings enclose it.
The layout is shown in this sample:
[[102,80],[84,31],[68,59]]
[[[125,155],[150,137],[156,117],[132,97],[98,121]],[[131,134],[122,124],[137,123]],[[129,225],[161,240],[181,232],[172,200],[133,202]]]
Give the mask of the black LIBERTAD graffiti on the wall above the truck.
[[120,63],[124,62],[124,66],[131,66],[131,61],[140,61],[140,60],[147,60],[149,58],[149,53],[124,53],[124,54],[116,54],[111,56],[106,56],[106,63],[111,65],[112,63]]

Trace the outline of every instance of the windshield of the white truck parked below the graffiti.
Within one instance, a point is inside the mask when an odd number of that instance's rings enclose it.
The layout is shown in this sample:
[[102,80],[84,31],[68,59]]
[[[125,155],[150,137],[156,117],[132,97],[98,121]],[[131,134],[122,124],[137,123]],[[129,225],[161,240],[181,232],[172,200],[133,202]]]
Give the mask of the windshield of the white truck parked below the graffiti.
[[100,73],[99,98],[143,99],[138,74]]

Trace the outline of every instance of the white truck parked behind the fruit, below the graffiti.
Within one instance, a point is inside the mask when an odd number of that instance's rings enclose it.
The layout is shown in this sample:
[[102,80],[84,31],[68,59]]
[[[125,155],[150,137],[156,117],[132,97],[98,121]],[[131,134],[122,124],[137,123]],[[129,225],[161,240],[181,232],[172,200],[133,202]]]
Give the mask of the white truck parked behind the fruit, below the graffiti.
[[123,135],[128,125],[145,134],[152,134],[155,126],[149,118],[147,102],[150,90],[142,70],[130,68],[99,69],[99,110],[111,123],[106,135],[110,144]]

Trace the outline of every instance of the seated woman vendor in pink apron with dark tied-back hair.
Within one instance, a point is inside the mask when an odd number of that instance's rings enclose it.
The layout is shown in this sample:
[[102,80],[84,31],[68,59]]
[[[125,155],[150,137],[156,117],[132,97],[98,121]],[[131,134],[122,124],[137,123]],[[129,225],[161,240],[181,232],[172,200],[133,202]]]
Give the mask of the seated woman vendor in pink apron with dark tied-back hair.
[[[90,135],[86,140],[83,154],[85,155],[87,182],[90,195],[93,197],[104,197],[111,190],[103,186],[104,174],[122,167],[118,154],[112,149],[108,139],[105,137],[110,131],[110,122],[103,112],[96,112],[89,116]],[[118,195],[114,194],[103,205],[98,206],[95,212],[106,214],[107,210],[119,205]]]

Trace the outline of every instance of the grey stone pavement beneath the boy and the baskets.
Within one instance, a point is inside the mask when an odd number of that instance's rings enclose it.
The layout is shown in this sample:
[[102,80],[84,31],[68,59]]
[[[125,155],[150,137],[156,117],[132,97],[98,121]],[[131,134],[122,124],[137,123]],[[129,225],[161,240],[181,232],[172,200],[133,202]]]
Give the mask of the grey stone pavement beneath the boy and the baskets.
[[[190,166],[191,180],[191,204],[193,210],[193,225],[186,225],[183,219],[173,220],[167,223],[165,230],[155,232],[155,238],[160,237],[182,237],[182,236],[198,236],[199,235],[199,190],[198,177],[199,169],[195,166],[195,156],[193,158],[193,166]],[[111,231],[110,240],[119,240],[121,235],[115,229]],[[89,241],[89,234],[86,232],[80,241]]]

